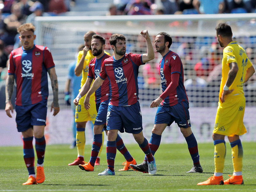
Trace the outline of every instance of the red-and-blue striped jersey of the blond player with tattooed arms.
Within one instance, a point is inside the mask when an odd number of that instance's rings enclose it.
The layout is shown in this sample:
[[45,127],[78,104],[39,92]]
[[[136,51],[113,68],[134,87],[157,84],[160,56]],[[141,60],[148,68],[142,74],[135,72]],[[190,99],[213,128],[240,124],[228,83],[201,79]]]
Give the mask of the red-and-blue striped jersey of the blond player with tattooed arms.
[[10,53],[8,74],[14,75],[17,84],[15,104],[31,105],[47,99],[47,70],[54,66],[47,47],[34,45],[29,50],[24,50],[23,46],[14,49]]

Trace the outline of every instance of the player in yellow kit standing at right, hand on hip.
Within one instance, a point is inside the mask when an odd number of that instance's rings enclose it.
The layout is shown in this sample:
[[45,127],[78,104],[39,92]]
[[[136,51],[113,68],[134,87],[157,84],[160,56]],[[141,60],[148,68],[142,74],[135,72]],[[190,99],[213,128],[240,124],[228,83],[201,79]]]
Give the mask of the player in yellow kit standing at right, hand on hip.
[[[244,49],[232,40],[231,27],[226,23],[219,23],[215,29],[219,44],[224,47],[219,102],[212,134],[215,170],[212,177],[197,185],[244,184],[243,147],[239,139],[239,135],[246,133],[243,123],[245,108],[243,85],[253,75],[255,69]],[[228,136],[231,145],[234,172],[223,181],[225,136]]]

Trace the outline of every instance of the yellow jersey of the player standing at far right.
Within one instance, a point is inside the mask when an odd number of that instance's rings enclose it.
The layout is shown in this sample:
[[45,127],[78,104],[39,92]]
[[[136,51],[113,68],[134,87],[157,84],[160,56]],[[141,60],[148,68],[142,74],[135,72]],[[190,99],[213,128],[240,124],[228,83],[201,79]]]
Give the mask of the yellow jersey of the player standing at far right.
[[228,71],[230,70],[229,63],[232,62],[237,63],[238,72],[233,83],[229,86],[229,90],[234,89],[234,91],[228,96],[244,94],[243,85],[246,70],[252,66],[252,63],[248,59],[243,47],[237,44],[237,41],[232,41],[223,49],[222,77],[220,82],[219,100],[223,92],[223,87],[227,82]]

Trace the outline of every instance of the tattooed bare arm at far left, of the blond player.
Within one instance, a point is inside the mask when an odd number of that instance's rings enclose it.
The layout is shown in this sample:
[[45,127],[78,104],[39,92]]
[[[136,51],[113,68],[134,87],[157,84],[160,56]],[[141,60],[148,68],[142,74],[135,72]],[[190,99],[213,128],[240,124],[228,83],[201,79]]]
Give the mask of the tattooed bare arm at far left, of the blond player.
[[5,112],[7,116],[12,118],[12,115],[10,113],[10,110],[13,113],[13,107],[11,103],[11,98],[12,98],[12,92],[13,92],[13,85],[14,85],[14,75],[8,75],[6,79],[6,84],[5,84]]

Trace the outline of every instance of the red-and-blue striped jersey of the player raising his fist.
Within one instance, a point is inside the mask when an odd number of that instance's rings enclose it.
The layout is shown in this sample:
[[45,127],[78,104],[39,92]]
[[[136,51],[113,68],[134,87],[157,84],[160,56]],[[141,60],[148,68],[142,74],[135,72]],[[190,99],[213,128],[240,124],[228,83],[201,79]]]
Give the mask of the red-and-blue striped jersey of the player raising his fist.
[[139,100],[138,73],[143,65],[141,54],[125,54],[123,58],[115,60],[109,57],[102,63],[101,79],[109,79],[111,86],[110,105],[133,105]]

